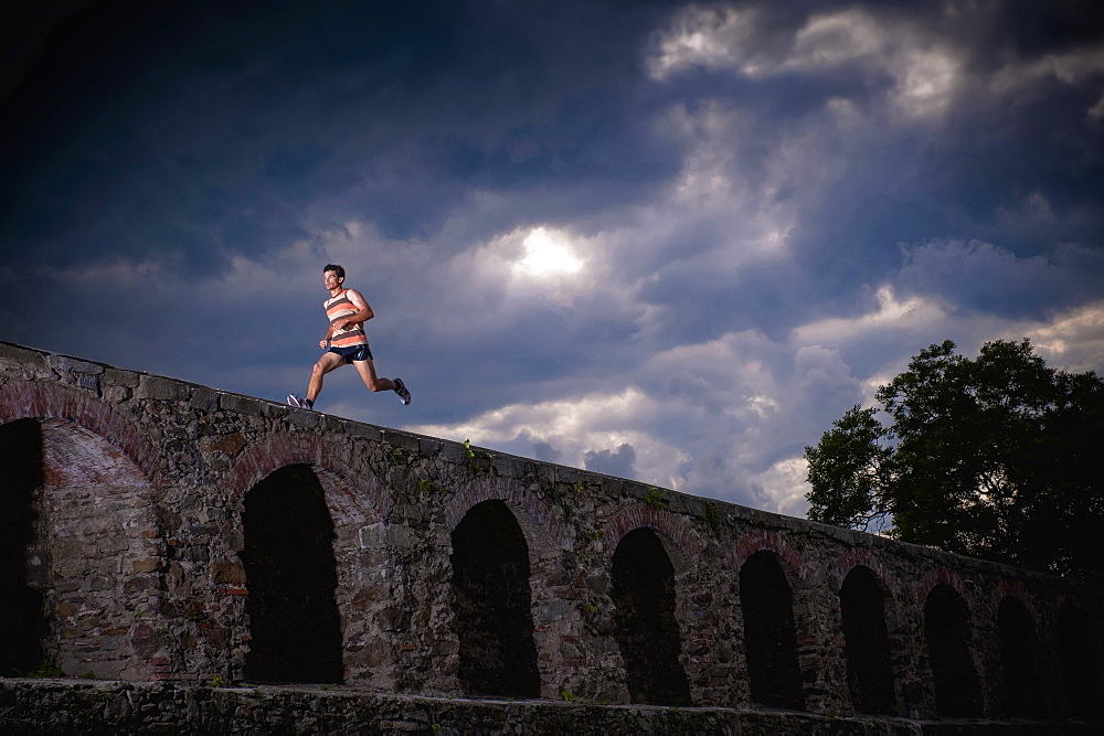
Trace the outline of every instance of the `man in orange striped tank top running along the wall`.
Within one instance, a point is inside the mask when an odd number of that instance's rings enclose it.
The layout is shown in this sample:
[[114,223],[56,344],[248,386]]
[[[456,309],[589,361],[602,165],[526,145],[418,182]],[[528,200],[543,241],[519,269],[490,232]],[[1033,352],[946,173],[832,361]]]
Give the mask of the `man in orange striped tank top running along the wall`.
[[399,394],[403,404],[410,404],[411,392],[406,391],[402,378],[392,381],[375,375],[372,351],[368,349],[368,338],[364,335],[364,322],[375,317],[375,312],[360,291],[344,288],[344,268],[328,264],[322,269],[322,281],[330,292],[330,298],[322,302],[330,320],[330,329],[318,341],[318,346],[326,352],[315,363],[307,385],[307,397],[288,394],[287,403],[301,409],[315,408],[315,399],[322,391],[322,376],[346,363],[352,363],[370,391],[393,391]]

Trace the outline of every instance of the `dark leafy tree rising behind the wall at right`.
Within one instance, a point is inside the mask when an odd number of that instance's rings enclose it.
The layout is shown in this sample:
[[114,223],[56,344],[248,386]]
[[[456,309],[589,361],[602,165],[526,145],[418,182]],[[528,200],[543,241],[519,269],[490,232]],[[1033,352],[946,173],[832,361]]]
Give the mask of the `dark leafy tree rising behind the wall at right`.
[[1048,367],[1027,340],[973,361],[948,340],[875,398],[805,448],[809,519],[1104,580],[1104,381]]

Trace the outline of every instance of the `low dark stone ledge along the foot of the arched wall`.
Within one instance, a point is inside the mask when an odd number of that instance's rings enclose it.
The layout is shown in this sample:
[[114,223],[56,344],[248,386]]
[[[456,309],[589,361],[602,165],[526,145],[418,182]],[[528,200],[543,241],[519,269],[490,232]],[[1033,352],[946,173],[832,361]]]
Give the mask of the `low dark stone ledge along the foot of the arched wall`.
[[[213,675],[205,678],[209,684]],[[198,681],[203,682],[203,681]],[[570,695],[570,693],[569,693]],[[433,698],[349,687],[0,680],[0,730],[44,734],[1096,734],[1092,723],[818,716],[725,707]]]

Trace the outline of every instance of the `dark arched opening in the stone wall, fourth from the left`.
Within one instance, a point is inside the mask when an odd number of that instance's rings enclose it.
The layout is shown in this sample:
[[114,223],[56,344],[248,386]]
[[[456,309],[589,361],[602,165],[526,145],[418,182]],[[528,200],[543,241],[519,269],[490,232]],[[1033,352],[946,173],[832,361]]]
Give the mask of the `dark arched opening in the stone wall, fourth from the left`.
[[633,702],[690,705],[690,683],[679,662],[675,567],[650,529],[635,529],[617,545],[612,597]]

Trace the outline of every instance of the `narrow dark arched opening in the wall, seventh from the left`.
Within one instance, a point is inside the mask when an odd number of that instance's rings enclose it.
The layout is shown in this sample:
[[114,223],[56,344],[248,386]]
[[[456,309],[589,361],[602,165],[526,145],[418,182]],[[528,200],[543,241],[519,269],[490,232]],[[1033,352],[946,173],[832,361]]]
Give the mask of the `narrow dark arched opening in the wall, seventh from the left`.
[[969,653],[969,610],[949,585],[937,585],[927,594],[924,638],[940,715],[980,715],[981,692]]

